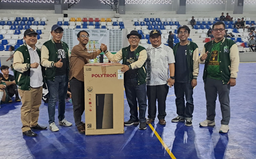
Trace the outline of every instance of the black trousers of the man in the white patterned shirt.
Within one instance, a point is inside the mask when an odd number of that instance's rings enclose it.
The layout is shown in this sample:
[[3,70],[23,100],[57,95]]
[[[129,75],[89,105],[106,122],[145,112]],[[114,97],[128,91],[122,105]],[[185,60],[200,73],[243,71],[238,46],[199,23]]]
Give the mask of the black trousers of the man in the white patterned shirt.
[[149,119],[155,120],[156,100],[158,101],[158,119],[165,119],[165,101],[169,87],[167,85],[147,85],[147,96],[149,101]]

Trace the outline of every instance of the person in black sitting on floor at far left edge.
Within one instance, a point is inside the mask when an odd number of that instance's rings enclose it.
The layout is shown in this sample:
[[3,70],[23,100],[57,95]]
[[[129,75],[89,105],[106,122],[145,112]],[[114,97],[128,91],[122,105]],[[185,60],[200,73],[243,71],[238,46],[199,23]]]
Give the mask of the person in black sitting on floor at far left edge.
[[8,94],[9,97],[14,96],[15,94],[15,101],[21,101],[18,95],[18,87],[15,83],[14,76],[9,74],[9,66],[2,65],[0,69],[3,75],[2,81],[5,81],[7,86],[5,89],[6,93]]

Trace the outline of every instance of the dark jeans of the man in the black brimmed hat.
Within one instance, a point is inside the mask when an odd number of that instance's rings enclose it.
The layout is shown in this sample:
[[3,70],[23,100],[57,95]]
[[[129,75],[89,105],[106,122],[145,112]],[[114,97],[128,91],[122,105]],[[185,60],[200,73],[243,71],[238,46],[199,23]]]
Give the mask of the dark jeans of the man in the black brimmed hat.
[[[124,88],[127,102],[130,107],[130,120],[146,122],[146,83],[138,85],[137,78],[125,79]],[[139,119],[138,108],[139,104]]]

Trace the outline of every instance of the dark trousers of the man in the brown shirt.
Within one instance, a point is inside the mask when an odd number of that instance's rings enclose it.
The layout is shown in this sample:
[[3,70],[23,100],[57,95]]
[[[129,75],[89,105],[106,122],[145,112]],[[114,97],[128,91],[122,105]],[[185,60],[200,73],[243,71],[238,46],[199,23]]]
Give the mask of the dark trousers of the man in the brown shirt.
[[73,114],[75,125],[77,127],[83,125],[82,114],[85,111],[85,84],[76,78],[72,78],[69,82],[72,92]]

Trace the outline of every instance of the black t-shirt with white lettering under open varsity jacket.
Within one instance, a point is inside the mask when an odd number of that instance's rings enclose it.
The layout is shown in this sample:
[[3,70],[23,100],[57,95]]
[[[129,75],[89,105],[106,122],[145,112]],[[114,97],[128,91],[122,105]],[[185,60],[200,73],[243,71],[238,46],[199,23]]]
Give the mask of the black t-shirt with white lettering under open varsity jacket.
[[60,76],[60,75],[66,74],[66,69],[67,69],[67,59],[66,58],[68,58],[68,57],[66,57],[66,52],[62,47],[62,43],[55,43],[55,44],[56,44],[56,47],[58,50],[57,51],[57,54],[58,54],[57,61],[62,59],[61,62],[63,63],[61,68],[56,68],[55,76]]

